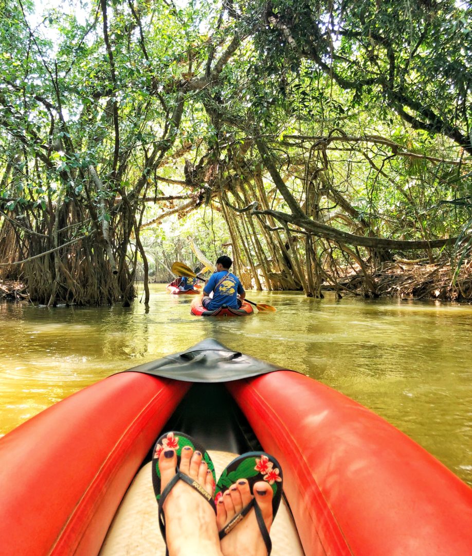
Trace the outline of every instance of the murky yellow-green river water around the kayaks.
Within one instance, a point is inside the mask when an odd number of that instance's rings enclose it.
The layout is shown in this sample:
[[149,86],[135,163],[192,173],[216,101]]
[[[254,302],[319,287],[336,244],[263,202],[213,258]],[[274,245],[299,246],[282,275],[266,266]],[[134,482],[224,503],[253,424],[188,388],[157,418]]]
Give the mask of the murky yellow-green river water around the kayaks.
[[0,435],[116,371],[206,337],[292,368],[366,405],[472,485],[472,307],[250,292],[247,318],[189,314],[152,287],[149,311],[0,303]]

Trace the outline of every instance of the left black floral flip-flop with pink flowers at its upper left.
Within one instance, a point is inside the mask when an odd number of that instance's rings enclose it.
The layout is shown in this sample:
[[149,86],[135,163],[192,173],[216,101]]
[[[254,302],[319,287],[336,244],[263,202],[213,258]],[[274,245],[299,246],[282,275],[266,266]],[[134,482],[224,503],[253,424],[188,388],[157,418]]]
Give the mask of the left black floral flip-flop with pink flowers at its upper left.
[[[202,461],[206,461],[208,465],[208,469],[212,471],[213,480],[216,482],[215,476],[215,466],[213,465],[213,461],[208,455],[208,452],[203,448],[203,446],[192,436],[188,436],[184,433],[178,433],[177,431],[171,431],[170,433],[165,433],[159,436],[157,442],[155,443],[154,450],[153,450],[153,459],[152,459],[152,484],[154,487],[154,494],[155,499],[158,502],[158,509],[159,509],[159,529],[164,542],[166,543],[166,554],[167,551],[167,540],[165,538],[165,516],[164,516],[164,502],[165,499],[168,497],[170,491],[175,486],[175,484],[182,480],[184,483],[187,483],[189,486],[192,486],[199,494],[208,501],[210,506],[214,509],[216,513],[216,507],[211,494],[209,494],[202,486],[195,481],[194,479],[190,478],[185,473],[179,471],[180,465],[180,455],[182,454],[183,448],[185,446],[190,446],[193,448],[193,451],[199,451],[202,453]],[[175,475],[172,479],[170,479],[168,485],[164,488],[164,491],[160,492],[160,471],[159,471],[159,455],[162,450],[172,448],[175,450],[177,454],[177,467],[175,468]]]

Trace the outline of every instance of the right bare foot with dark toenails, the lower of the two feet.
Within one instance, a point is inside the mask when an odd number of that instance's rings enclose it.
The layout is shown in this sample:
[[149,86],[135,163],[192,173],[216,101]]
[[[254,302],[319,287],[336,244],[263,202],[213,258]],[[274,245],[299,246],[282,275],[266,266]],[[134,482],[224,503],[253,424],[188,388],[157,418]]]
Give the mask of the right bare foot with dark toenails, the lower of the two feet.
[[[267,482],[258,481],[254,484],[253,492],[269,533],[272,525],[272,488]],[[217,503],[218,530],[224,530],[225,525],[247,506],[252,498],[247,480],[240,479],[237,484],[231,485]],[[223,556],[267,556],[267,547],[260,533],[254,508],[221,540],[221,550]]]

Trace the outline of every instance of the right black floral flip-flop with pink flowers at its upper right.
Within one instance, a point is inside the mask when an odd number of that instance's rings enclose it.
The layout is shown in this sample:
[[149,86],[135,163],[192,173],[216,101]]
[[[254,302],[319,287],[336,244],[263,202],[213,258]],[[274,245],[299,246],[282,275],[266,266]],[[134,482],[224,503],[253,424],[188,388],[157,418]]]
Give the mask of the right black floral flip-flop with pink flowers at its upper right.
[[[272,520],[274,520],[279,509],[280,500],[282,499],[283,486],[282,469],[278,461],[272,455],[260,451],[248,452],[247,454],[238,456],[227,465],[218,479],[215,489],[215,502],[218,502],[223,493],[240,479],[246,479],[248,481],[251,494],[253,494],[254,483],[257,483],[257,481],[267,481],[269,485],[272,486]],[[226,537],[252,508],[254,508],[260,534],[264,539],[265,548],[267,548],[267,556],[270,556],[272,541],[270,540],[269,532],[267,527],[265,527],[262,517],[262,512],[255,498],[220,530],[219,538],[222,540]]]

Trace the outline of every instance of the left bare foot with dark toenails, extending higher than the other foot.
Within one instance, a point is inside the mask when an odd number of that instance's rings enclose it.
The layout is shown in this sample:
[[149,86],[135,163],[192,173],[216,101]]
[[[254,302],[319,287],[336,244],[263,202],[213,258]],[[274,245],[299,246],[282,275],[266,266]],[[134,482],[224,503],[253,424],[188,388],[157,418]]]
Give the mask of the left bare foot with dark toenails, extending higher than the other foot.
[[[161,493],[175,475],[177,455],[164,448],[159,455]],[[194,479],[203,492],[213,495],[213,475],[199,451],[182,450],[180,471]],[[222,556],[215,513],[197,490],[178,480],[164,502],[165,537],[169,556]]]

